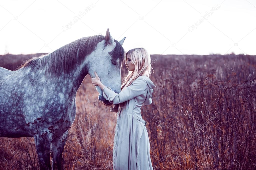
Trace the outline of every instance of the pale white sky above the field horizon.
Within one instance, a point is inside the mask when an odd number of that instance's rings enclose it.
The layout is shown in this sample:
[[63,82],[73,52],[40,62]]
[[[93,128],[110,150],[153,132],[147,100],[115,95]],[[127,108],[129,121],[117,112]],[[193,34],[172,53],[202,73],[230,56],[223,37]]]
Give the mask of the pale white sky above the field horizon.
[[49,53],[109,28],[125,50],[256,55],[253,0],[1,0],[0,15],[0,54]]

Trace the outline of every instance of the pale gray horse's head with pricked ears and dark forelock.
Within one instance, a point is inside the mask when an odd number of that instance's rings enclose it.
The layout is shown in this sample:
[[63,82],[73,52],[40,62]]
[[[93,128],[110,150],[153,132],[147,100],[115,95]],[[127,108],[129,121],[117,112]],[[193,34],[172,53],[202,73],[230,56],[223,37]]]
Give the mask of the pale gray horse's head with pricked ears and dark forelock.
[[[118,42],[112,38],[107,29],[105,40],[99,42],[91,55],[86,58],[90,76],[95,77],[94,71],[96,71],[101,82],[111,87],[115,93],[121,91],[121,68],[125,62],[122,44],[125,38]],[[103,97],[102,89],[99,86],[96,86],[96,89],[99,92],[98,99],[110,103]]]

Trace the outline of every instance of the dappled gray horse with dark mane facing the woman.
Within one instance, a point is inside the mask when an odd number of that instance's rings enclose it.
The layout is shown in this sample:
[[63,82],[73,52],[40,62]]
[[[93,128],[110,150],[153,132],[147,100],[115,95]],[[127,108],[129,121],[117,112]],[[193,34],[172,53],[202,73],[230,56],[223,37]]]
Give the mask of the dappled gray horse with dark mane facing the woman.
[[[106,31],[83,37],[45,56],[29,59],[22,68],[0,67],[0,136],[34,137],[40,169],[61,169],[68,128],[76,116],[76,93],[84,77],[95,77],[121,91],[122,44]],[[99,100],[103,97],[100,87]],[[63,139],[64,136],[64,139]]]

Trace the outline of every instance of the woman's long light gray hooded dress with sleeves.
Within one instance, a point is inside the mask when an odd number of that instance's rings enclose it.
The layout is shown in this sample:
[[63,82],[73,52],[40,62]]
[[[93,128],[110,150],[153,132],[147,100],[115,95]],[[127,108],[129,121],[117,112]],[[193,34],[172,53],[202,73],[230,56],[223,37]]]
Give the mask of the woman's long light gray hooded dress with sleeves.
[[113,147],[114,170],[153,170],[150,143],[146,122],[141,116],[141,106],[143,103],[152,103],[151,96],[155,87],[147,76],[142,75],[119,94],[108,86],[103,88],[104,98],[113,102],[114,108],[125,102],[117,114]]

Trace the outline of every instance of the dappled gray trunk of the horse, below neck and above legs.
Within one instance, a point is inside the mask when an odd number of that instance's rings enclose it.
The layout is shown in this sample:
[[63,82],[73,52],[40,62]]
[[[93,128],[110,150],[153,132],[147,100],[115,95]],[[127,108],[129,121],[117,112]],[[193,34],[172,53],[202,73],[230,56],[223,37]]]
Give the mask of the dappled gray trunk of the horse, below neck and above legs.
[[[31,68],[21,68],[15,74],[9,73],[11,76],[1,86],[1,137],[33,137],[37,132],[49,133],[48,128],[57,126],[55,123],[61,119],[68,121],[66,129],[61,129],[65,132],[74,122],[77,89],[74,88],[73,77],[62,75],[55,80],[46,79],[42,73],[31,71]],[[39,126],[41,129],[38,129],[34,120],[45,117],[41,123],[47,126]]]

